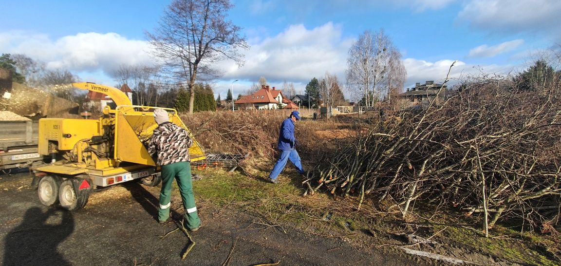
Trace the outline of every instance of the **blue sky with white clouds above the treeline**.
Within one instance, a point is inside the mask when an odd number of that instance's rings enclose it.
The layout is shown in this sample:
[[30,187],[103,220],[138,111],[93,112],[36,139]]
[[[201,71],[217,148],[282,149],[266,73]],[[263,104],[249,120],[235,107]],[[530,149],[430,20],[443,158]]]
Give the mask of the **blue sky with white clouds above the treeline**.
[[[0,53],[23,53],[64,68],[83,81],[113,85],[121,65],[148,65],[145,31],[158,26],[162,1],[3,0]],[[406,87],[479,71],[520,71],[536,54],[561,44],[558,0],[239,0],[229,20],[251,49],[246,64],[218,65],[222,98],[247,90],[260,76],[272,86],[293,82],[300,93],[312,77],[345,80],[348,48],[365,30],[383,29],[403,55]],[[352,91],[346,92],[356,97]]]

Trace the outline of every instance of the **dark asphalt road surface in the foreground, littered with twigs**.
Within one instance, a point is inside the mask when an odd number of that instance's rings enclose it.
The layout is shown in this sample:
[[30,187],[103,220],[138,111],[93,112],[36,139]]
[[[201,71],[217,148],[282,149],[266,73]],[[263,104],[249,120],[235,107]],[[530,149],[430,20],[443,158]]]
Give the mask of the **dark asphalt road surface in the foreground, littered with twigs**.
[[[29,173],[0,175],[2,265],[427,264],[417,256],[357,249],[289,225],[283,233],[204,200],[198,204],[203,227],[192,233],[196,245],[182,260],[187,237],[178,230],[162,238],[177,227],[155,219],[158,187],[114,186],[92,194],[84,209],[67,212],[40,204],[30,182]],[[172,216],[177,220],[181,214]]]

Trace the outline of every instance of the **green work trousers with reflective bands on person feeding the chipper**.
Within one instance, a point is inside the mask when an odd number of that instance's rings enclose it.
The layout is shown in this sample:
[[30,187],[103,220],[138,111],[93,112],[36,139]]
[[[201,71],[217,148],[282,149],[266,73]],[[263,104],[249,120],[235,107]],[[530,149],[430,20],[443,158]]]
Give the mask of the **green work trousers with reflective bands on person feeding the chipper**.
[[195,229],[201,225],[201,220],[195,207],[195,196],[191,184],[191,163],[178,162],[162,166],[162,190],[160,190],[160,208],[158,211],[159,221],[169,218],[169,207],[171,206],[173,178],[177,180],[177,186],[181,193],[185,218],[183,226],[187,229]]

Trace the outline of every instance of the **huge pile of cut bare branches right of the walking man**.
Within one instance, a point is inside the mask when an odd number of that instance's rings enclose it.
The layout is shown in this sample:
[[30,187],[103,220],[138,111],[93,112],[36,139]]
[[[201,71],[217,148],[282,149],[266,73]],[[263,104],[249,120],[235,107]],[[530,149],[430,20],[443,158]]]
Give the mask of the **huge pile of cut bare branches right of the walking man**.
[[320,158],[306,194],[356,195],[358,208],[366,198],[403,217],[415,202],[447,205],[485,213],[485,228],[512,215],[533,225],[559,212],[559,82],[528,91],[472,80],[443,103],[394,115]]

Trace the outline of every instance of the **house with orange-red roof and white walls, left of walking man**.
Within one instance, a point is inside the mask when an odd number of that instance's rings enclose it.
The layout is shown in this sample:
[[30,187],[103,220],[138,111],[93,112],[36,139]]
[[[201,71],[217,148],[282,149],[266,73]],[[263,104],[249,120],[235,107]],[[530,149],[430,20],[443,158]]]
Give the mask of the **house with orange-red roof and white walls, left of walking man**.
[[282,91],[269,85],[261,86],[254,94],[242,96],[234,102],[237,108],[245,109],[297,109],[298,106],[284,97]]

